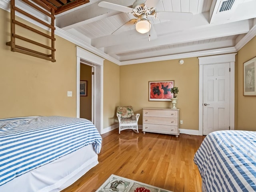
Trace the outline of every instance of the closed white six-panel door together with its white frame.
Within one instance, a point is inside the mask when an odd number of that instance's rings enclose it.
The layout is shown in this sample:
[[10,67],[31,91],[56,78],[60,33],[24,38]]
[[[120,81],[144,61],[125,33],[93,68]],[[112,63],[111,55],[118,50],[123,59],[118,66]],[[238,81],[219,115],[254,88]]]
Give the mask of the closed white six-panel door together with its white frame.
[[234,130],[235,56],[236,53],[198,57],[198,135],[215,130]]

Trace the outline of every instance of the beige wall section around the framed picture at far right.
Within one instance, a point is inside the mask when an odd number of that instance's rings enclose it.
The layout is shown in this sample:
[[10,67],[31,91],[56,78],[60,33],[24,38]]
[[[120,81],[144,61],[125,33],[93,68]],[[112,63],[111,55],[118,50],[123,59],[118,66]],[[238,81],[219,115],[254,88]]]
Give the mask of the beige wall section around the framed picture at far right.
[[243,96],[243,64],[256,56],[256,37],[248,42],[237,54],[236,68],[236,119],[238,130],[256,131],[256,96]]

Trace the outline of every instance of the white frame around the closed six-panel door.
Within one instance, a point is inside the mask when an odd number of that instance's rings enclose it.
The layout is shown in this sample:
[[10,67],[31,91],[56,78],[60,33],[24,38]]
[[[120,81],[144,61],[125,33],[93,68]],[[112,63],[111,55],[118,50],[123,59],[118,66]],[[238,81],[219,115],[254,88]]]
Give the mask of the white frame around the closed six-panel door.
[[203,135],[203,66],[209,64],[230,63],[230,130],[235,128],[235,61],[236,53],[198,57],[199,59],[199,128],[198,134]]

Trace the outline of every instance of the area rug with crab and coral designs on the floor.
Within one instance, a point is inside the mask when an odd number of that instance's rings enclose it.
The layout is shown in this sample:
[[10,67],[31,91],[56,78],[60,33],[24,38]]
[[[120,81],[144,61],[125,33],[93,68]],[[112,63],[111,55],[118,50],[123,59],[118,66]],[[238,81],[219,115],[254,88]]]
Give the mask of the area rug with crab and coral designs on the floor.
[[96,192],[171,192],[152,185],[111,175]]

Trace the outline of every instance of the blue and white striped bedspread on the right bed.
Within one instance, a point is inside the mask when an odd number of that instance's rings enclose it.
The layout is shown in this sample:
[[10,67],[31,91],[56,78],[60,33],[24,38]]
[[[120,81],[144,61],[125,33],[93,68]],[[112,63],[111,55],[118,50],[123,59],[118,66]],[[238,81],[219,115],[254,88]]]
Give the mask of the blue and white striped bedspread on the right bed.
[[256,132],[208,134],[194,156],[206,192],[256,191]]

